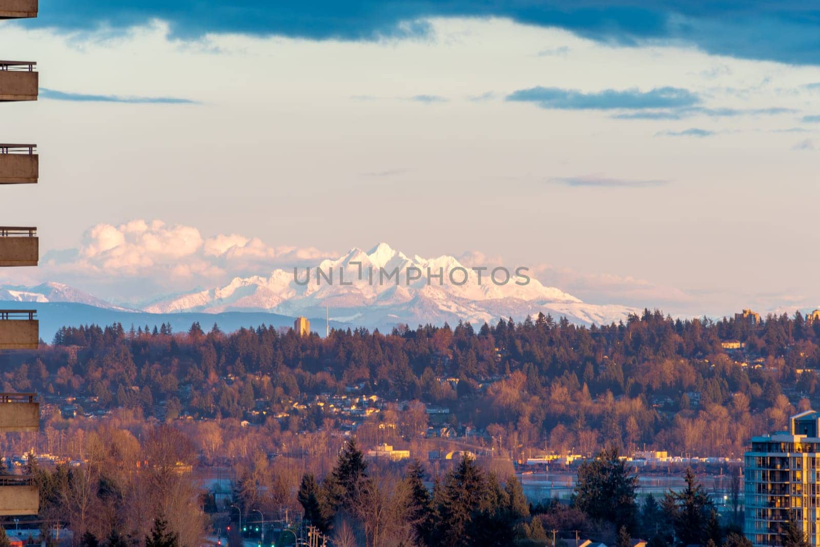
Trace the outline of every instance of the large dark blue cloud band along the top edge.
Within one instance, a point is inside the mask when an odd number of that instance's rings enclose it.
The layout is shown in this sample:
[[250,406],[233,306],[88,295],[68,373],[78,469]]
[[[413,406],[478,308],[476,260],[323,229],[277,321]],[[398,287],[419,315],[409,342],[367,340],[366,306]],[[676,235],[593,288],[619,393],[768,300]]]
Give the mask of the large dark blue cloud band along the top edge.
[[[500,17],[523,25],[565,29],[599,43],[682,43],[705,52],[790,64],[820,63],[820,8],[797,0],[690,2],[690,0],[51,0],[26,25],[62,31],[125,31],[153,20],[175,37],[211,33],[286,36],[312,40],[418,38],[430,34],[433,17]],[[761,32],[760,29],[766,29]]]

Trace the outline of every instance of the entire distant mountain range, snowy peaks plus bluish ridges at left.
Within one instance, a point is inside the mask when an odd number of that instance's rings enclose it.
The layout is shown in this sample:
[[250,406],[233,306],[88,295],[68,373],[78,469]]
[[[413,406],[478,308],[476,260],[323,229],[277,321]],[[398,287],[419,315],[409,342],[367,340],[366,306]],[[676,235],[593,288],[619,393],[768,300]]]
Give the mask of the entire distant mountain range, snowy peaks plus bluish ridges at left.
[[[323,260],[310,269],[299,268],[295,279],[293,269],[276,269],[267,277],[234,278],[223,287],[171,296],[146,295],[148,303],[133,308],[113,305],[62,283],[0,286],[0,301],[84,305],[59,308],[64,324],[90,323],[89,317],[93,316],[121,318],[116,320],[124,325],[147,322],[153,326],[157,321],[163,322],[159,318],[165,318],[165,322],[172,324],[187,322],[185,328],[192,322],[190,317],[211,318],[212,314],[230,314],[231,318],[239,314],[243,319],[237,319],[237,325],[244,326],[272,321],[292,324],[290,318],[299,315],[324,319],[326,306],[335,324],[382,329],[398,323],[415,326],[464,320],[481,324],[499,317],[523,320],[526,315],[539,312],[566,316],[574,323],[589,325],[617,322],[627,314],[640,311],[622,305],[588,304],[558,288],[544,287],[535,278],[523,284],[526,279],[517,277],[514,269],[507,270],[511,277],[508,283],[503,283],[507,277],[505,271],[497,271],[494,279],[490,278],[491,271],[489,267],[479,278],[479,273],[453,256],[411,258],[380,243],[367,252],[353,248],[337,260]],[[435,277],[437,273],[443,273],[443,277]],[[522,272],[523,275],[531,274]],[[92,312],[92,309],[107,313]],[[69,310],[77,315],[68,314]],[[137,319],[146,314],[147,321]],[[185,319],[180,314],[186,314]],[[200,320],[203,328],[210,322],[210,319]],[[314,324],[315,330],[322,330],[316,327]],[[230,325],[226,323],[224,328]]]

